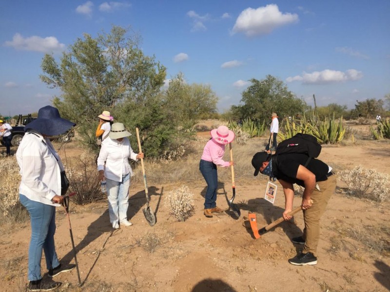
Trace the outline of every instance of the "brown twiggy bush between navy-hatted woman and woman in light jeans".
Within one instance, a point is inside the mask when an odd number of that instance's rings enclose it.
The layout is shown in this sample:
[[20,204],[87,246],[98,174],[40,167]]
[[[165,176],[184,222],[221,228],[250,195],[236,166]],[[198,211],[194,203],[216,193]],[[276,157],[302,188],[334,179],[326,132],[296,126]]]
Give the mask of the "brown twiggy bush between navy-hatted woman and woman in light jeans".
[[95,161],[96,156],[91,151],[83,152],[76,162],[68,162],[66,159],[65,170],[70,183],[69,189],[76,193],[71,200],[78,205],[102,201],[105,198],[105,194],[100,190]]

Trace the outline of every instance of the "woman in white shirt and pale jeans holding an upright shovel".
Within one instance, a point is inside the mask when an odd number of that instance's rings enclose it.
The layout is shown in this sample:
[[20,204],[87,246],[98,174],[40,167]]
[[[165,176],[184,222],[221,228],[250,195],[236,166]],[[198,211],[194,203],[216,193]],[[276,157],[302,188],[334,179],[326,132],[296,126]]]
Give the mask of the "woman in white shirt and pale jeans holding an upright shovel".
[[114,229],[118,229],[119,224],[133,225],[127,220],[130,177],[133,176],[129,158],[137,161],[144,155],[133,151],[127,138],[130,135],[122,123],[114,123],[98,156],[99,179],[107,181],[108,211]]

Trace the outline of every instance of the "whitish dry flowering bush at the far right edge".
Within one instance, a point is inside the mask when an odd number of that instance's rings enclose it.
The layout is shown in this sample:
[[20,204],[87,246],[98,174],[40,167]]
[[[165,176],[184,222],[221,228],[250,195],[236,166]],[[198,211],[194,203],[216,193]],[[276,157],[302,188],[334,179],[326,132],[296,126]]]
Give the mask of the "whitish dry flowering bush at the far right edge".
[[375,169],[364,169],[361,165],[339,173],[340,180],[347,183],[348,192],[353,197],[373,201],[389,199],[389,175]]

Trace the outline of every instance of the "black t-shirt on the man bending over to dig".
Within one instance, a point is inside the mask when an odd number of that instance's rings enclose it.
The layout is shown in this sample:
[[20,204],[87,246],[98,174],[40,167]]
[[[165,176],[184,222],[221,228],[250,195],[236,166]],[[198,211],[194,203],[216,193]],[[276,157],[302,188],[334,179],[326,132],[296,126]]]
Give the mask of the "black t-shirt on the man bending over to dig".
[[[300,186],[305,186],[303,181],[296,179],[299,165],[305,165],[309,156],[301,153],[291,153],[278,155],[275,159],[273,157],[272,172],[279,180],[288,183],[296,183]],[[316,182],[327,180],[326,174],[329,172],[329,166],[319,159],[312,158],[306,166],[314,175]]]

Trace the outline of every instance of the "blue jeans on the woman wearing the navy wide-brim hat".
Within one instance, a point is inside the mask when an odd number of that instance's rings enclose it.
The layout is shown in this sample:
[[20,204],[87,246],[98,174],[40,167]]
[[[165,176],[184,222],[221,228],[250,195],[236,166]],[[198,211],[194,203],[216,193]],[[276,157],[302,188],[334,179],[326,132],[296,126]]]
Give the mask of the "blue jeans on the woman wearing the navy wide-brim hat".
[[59,260],[54,246],[54,233],[56,232],[56,207],[41,202],[32,201],[19,194],[20,202],[26,207],[31,218],[31,241],[28,250],[29,281],[42,278],[40,274],[40,260],[42,249],[45,253],[46,268],[57,268]]

